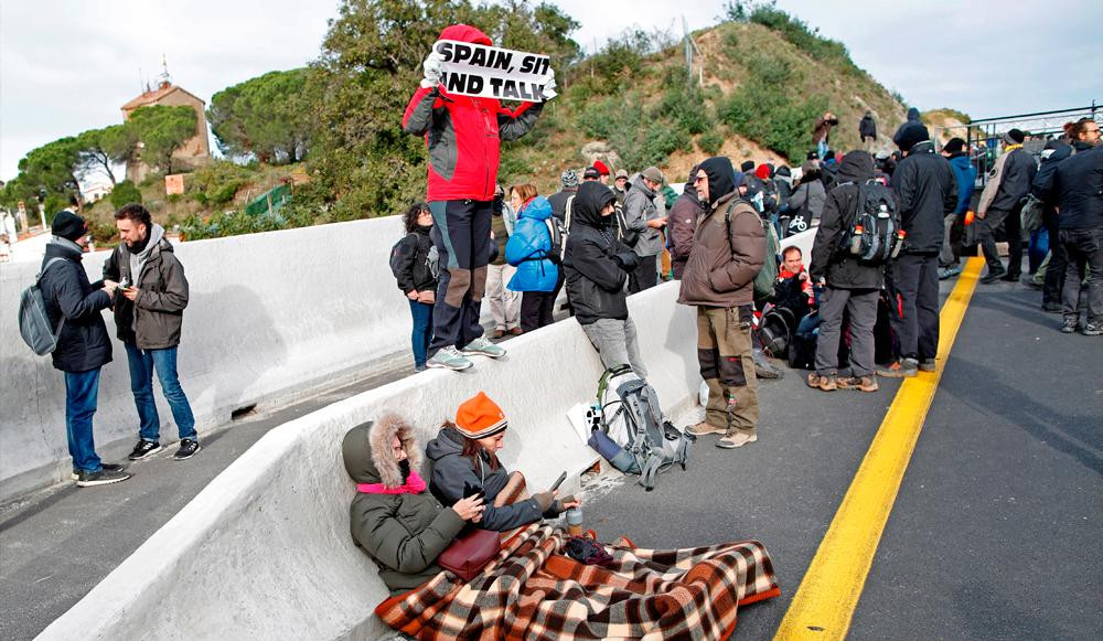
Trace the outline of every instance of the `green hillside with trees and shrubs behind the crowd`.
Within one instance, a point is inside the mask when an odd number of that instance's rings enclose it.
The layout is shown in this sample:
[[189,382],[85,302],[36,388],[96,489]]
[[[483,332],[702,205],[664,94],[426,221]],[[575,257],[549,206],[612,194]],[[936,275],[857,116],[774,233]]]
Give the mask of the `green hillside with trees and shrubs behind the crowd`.
[[[842,43],[772,3],[729,2],[722,21],[693,33],[690,76],[685,41],[661,31],[625,31],[583,56],[571,39],[578,22],[550,3],[344,0],[308,67],[247,78],[211,98],[207,119],[226,159],[190,173],[183,194],[165,195],[164,172],[141,185],[120,182],[89,209],[97,241],[113,242],[113,209],[138,199],[189,238],[390,215],[424,199],[425,142],[401,131],[401,115],[426,53],[458,22],[500,46],[552,57],[560,95],[528,136],[503,143],[499,172],[503,184],[533,182],[542,193],[564,169],[599,159],[629,171],[654,164],[671,182],[717,153],[737,164],[796,165],[825,110],[839,118],[832,147],[857,147],[858,121],[871,110],[888,148],[904,118],[899,96]],[[0,203],[13,206],[45,184],[54,211],[82,172],[125,161],[136,139],[163,129],[113,126],[34,150]],[[161,138],[171,156],[175,138]],[[245,212],[279,184],[293,184],[287,205]]]

